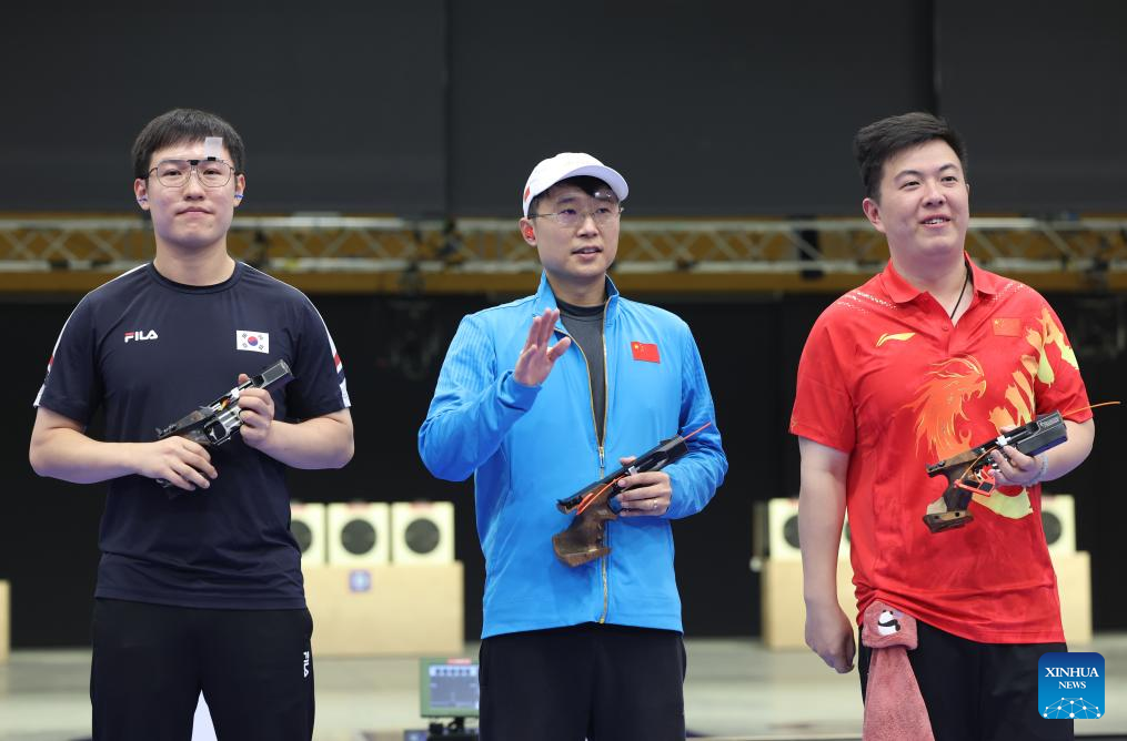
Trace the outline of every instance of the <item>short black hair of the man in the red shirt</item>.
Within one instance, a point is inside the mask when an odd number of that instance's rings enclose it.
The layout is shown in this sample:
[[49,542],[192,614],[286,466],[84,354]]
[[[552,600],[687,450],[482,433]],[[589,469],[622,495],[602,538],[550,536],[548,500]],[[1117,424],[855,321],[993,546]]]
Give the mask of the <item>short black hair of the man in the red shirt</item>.
[[906,149],[934,140],[947,142],[959,157],[962,175],[967,173],[967,145],[947,120],[928,113],[909,113],[881,118],[863,126],[853,137],[853,157],[861,168],[864,195],[873,200],[880,196],[880,178],[885,162]]

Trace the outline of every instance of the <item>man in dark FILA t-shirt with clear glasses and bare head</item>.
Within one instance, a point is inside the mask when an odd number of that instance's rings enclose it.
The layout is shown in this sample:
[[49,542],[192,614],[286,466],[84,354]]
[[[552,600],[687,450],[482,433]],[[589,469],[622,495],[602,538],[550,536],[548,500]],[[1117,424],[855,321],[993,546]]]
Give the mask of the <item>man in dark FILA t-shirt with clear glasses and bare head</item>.
[[[308,741],[312,621],[284,473],[352,458],[343,365],[309,298],[228,253],[247,185],[230,124],[171,110],[144,127],[133,158],[156,257],[87,294],[66,320],[30,446],[39,475],[109,482],[94,735],[187,739],[203,691],[221,738]],[[294,380],[243,391],[243,426],[227,444],[156,439],[277,360]],[[101,440],[86,434],[98,409]]]

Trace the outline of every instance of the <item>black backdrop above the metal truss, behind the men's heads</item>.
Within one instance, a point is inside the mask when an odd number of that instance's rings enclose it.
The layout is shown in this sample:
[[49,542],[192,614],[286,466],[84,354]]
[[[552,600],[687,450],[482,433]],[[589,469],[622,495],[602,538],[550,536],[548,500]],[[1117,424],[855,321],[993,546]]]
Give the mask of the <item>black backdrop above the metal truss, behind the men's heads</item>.
[[175,106],[248,144],[245,211],[511,215],[591,151],[631,213],[851,214],[857,128],[928,108],[985,212],[1127,204],[1127,3],[517,0],[6,9],[0,212],[130,207]]

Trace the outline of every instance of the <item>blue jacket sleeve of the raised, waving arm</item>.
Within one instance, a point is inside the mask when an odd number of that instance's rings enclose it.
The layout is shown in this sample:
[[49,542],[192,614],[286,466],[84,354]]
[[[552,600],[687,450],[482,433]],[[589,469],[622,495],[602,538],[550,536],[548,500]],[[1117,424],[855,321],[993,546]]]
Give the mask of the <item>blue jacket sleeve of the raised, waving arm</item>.
[[419,428],[424,465],[446,481],[468,479],[497,452],[539,393],[540,386],[517,383],[512,369],[498,372],[483,322],[474,315],[463,318]]

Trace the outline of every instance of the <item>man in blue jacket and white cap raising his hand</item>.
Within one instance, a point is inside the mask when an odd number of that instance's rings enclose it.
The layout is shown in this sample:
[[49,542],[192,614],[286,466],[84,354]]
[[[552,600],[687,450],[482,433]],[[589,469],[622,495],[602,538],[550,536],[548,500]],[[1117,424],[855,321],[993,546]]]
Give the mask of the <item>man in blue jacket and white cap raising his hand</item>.
[[419,429],[434,475],[474,475],[490,741],[685,735],[669,520],[703,509],[724,480],[716,426],[664,470],[623,479],[610,555],[571,568],[551,542],[571,521],[557,500],[715,419],[685,322],[621,297],[606,276],[627,193],[588,154],[535,167],[520,225],[544,268],[540,288],[462,320]]

